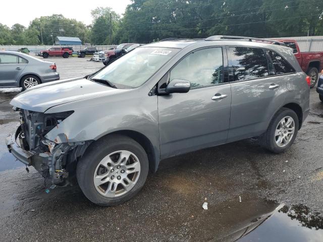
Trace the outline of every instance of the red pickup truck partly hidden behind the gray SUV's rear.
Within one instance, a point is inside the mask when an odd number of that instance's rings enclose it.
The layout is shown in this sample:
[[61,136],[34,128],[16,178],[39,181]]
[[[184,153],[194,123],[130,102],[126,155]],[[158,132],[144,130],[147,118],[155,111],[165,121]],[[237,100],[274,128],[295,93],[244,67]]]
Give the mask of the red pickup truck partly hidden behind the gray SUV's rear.
[[314,87],[318,80],[318,73],[323,70],[323,52],[301,52],[294,39],[276,39],[293,49],[293,53],[302,70],[311,78],[310,87]]

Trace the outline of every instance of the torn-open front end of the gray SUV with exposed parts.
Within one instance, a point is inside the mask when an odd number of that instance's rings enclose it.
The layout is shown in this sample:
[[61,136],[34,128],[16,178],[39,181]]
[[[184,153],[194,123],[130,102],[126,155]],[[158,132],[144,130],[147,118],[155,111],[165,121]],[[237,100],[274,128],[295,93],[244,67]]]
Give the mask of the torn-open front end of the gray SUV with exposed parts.
[[91,141],[68,142],[62,134],[55,141],[45,138],[74,111],[42,113],[20,110],[20,126],[10,134],[6,143],[9,151],[21,162],[35,169],[51,184],[64,186],[75,172],[78,157],[81,157]]

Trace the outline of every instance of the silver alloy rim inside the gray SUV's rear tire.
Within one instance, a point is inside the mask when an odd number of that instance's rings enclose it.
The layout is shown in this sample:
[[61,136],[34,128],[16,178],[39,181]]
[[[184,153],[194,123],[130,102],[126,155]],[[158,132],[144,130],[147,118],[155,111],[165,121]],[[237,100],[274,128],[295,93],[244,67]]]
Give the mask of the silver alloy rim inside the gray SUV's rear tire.
[[291,116],[283,117],[275,131],[275,141],[278,147],[287,146],[292,140],[295,132],[295,122]]

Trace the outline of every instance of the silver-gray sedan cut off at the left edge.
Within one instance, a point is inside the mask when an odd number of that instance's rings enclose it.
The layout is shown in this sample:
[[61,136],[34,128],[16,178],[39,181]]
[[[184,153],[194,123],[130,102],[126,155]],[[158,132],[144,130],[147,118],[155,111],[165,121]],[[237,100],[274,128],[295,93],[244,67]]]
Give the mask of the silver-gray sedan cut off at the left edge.
[[60,79],[56,64],[28,54],[0,50],[0,87],[26,90],[40,83]]

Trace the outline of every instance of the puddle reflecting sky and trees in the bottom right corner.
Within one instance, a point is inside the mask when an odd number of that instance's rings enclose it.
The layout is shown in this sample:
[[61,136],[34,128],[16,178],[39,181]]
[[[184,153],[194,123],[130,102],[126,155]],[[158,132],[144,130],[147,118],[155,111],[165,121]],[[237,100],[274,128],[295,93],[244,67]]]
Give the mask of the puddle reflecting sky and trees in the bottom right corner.
[[[323,241],[323,215],[304,205],[284,206],[241,231],[237,241]],[[227,241],[227,240],[221,240]],[[232,240],[228,240],[232,241]]]

